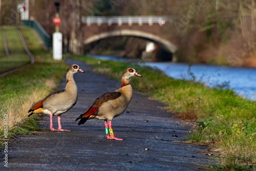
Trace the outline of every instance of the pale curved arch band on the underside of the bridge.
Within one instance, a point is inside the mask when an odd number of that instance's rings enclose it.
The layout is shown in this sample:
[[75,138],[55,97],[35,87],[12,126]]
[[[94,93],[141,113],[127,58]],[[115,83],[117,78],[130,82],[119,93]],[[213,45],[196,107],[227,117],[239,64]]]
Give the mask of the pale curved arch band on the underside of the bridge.
[[148,39],[153,42],[156,42],[156,44],[158,44],[161,48],[163,48],[165,51],[170,53],[175,53],[177,50],[176,45],[172,44],[172,42],[162,37],[159,37],[155,34],[138,31],[138,30],[114,30],[114,31],[95,34],[93,36],[88,37],[86,40],[84,40],[84,44],[88,45],[100,39],[104,39],[108,37],[116,37],[116,36],[134,36],[134,37]]

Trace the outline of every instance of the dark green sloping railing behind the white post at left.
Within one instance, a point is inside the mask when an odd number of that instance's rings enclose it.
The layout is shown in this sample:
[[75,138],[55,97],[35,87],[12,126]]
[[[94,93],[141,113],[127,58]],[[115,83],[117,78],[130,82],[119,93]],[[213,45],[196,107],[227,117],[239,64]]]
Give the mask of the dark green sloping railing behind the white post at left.
[[47,48],[51,48],[51,36],[45,31],[44,28],[42,28],[42,26],[37,22],[37,20],[23,20],[22,24],[24,26],[33,28],[38,33],[42,41],[44,41]]

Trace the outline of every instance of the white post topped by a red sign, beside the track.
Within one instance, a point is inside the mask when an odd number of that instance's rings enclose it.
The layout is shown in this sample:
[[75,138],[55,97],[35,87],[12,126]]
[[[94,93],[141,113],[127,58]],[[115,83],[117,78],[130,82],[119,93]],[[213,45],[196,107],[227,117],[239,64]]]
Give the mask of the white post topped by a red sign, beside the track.
[[62,59],[62,33],[59,32],[59,2],[55,2],[56,14],[53,18],[53,23],[55,24],[55,33],[53,33],[53,59],[61,60]]

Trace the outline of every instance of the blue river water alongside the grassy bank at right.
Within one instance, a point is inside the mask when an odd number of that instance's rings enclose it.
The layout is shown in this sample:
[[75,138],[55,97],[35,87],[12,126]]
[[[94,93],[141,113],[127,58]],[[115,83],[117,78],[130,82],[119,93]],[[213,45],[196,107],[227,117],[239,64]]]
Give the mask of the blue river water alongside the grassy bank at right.
[[[139,62],[136,59],[125,59],[117,56],[93,56],[94,58],[118,60],[127,62]],[[249,100],[256,100],[256,69],[235,68],[213,65],[194,64],[189,67],[188,63],[173,62],[148,62],[139,65],[150,66],[163,71],[167,76],[175,79],[194,79],[209,87],[218,88],[226,86],[234,90],[239,96]],[[188,72],[190,70],[190,72]]]

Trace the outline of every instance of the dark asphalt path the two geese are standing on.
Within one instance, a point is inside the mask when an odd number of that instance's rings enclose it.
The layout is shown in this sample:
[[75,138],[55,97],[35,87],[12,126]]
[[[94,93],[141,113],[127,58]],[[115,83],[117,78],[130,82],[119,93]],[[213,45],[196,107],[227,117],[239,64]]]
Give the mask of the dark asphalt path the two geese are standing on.
[[[74,74],[78,87],[76,105],[61,115],[62,129],[71,132],[50,131],[50,116],[42,115],[38,122],[41,130],[35,135],[9,141],[8,167],[4,166],[5,153],[1,151],[0,170],[206,170],[217,163],[207,155],[206,146],[182,142],[191,127],[162,110],[163,103],[136,91],[126,111],[112,120],[115,137],[123,141],[105,138],[103,120],[77,125],[75,119],[92,101],[118,89],[121,83],[92,72],[93,68],[84,62],[66,62],[85,71]],[[65,86],[63,78],[59,89]],[[53,127],[58,127],[57,117],[53,117]]]

